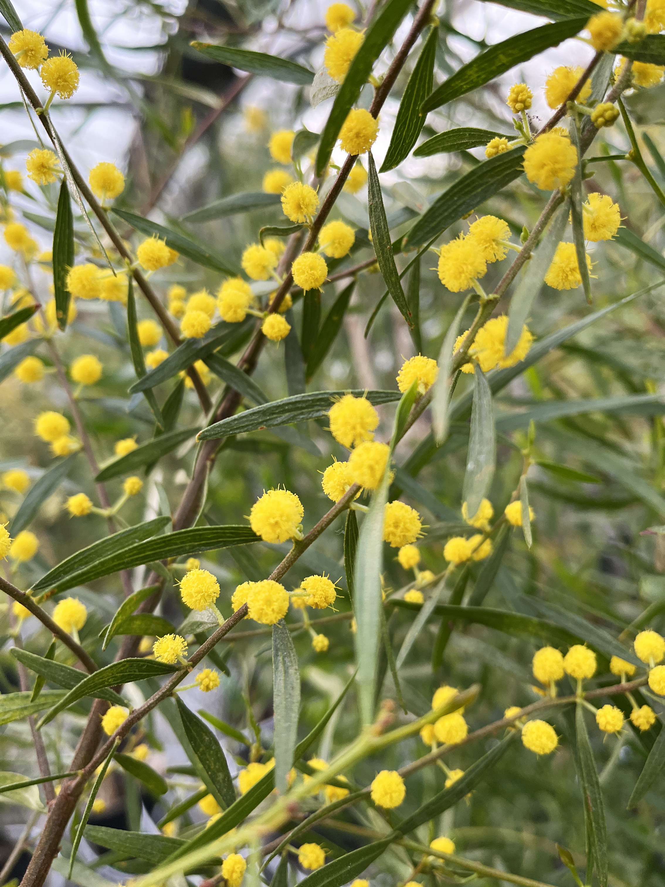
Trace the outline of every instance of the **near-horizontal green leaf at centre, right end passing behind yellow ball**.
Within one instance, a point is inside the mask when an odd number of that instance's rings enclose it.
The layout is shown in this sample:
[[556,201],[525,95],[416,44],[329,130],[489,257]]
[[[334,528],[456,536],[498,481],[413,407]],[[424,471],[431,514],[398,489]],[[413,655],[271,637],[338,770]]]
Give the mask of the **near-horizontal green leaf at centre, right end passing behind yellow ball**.
[[255,406],[252,410],[240,412],[237,416],[215,422],[200,431],[198,439],[212,440],[218,437],[246,434],[248,431],[256,431],[259,428],[277,428],[281,425],[291,425],[309,419],[318,419],[327,415],[336,398],[345,394],[356,397],[367,396],[371,404],[390,404],[399,400],[399,391],[365,391],[364,389],[352,389],[348,391],[312,391],[310,394],[299,394],[293,397],[285,397],[283,400],[274,400],[270,404]]

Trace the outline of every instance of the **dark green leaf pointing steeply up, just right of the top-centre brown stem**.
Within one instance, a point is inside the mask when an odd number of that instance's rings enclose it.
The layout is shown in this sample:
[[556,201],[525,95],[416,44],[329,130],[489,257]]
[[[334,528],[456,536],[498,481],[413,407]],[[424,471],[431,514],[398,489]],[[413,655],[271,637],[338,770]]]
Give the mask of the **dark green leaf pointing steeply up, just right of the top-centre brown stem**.
[[420,106],[432,91],[434,59],[438,42],[439,28],[433,25],[429,29],[419,59],[404,89],[386,159],[381,165],[381,172],[395,169],[408,156],[411,148],[418,141],[420,130],[425,125],[425,114],[420,113]]

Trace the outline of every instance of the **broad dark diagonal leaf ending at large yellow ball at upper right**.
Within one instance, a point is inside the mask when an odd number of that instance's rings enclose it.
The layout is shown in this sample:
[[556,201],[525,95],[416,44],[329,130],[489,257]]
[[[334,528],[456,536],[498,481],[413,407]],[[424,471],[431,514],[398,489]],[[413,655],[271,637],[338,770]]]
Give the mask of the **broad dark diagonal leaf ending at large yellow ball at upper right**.
[[429,240],[439,237],[451,224],[519,178],[524,171],[522,158],[525,151],[526,148],[520,146],[497,154],[451,184],[406,234],[403,248],[422,247]]

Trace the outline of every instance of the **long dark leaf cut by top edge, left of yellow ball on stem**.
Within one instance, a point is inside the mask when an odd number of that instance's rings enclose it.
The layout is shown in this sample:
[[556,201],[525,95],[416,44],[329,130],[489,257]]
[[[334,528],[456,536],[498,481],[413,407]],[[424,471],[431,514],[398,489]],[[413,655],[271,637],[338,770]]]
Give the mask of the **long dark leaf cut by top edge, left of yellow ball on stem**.
[[387,3],[379,6],[379,12],[374,15],[370,27],[365,31],[363,51],[357,52],[349,65],[321,134],[317,153],[317,176],[323,175],[348,112],[356,104],[364,84],[372,74],[374,62],[392,40],[410,5],[410,0],[387,0]]

